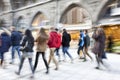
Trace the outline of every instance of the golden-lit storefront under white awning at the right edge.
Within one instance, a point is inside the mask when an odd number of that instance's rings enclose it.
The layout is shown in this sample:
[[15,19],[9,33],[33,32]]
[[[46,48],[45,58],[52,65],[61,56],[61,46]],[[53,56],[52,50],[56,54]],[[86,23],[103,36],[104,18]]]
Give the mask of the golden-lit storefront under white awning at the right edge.
[[[113,21],[112,21],[113,20]],[[120,21],[116,19],[105,20],[100,27],[105,31],[106,50],[108,51],[109,41],[112,41],[112,52],[120,53]]]

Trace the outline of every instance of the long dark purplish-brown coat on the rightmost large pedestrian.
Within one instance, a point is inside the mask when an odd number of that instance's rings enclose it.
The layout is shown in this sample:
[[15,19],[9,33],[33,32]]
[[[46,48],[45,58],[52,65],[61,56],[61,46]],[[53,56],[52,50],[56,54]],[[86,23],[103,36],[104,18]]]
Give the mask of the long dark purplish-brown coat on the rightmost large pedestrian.
[[105,35],[94,33],[92,38],[95,40],[92,52],[98,54],[98,56],[101,57],[105,49]]

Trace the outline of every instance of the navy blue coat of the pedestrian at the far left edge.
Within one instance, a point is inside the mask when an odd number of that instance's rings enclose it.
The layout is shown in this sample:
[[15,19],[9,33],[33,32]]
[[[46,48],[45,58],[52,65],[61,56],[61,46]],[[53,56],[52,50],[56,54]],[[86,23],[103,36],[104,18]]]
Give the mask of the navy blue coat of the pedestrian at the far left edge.
[[1,34],[1,46],[0,46],[0,52],[4,53],[7,52],[11,46],[11,38],[7,33]]

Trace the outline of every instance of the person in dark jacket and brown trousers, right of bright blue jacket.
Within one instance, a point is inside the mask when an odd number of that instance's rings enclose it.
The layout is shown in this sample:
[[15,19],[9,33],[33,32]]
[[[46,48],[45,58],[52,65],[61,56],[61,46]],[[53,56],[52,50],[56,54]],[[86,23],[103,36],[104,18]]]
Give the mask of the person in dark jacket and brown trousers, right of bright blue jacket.
[[86,61],[86,55],[92,60],[92,57],[90,56],[90,54],[88,53],[88,48],[90,46],[90,37],[88,35],[88,31],[84,30],[84,53],[85,53],[85,60]]

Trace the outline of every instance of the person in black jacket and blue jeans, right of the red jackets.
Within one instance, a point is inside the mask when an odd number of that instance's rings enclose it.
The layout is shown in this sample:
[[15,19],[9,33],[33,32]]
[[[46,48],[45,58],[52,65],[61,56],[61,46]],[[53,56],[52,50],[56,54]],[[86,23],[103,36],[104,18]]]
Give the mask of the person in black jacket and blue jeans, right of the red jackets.
[[70,53],[68,52],[68,49],[70,47],[70,41],[71,41],[71,36],[70,34],[67,33],[66,29],[63,29],[63,35],[62,35],[62,51],[63,51],[63,55],[64,55],[64,60],[65,58],[65,54],[67,54],[69,56],[69,58],[71,59],[71,62],[73,62],[73,57],[70,55]]

